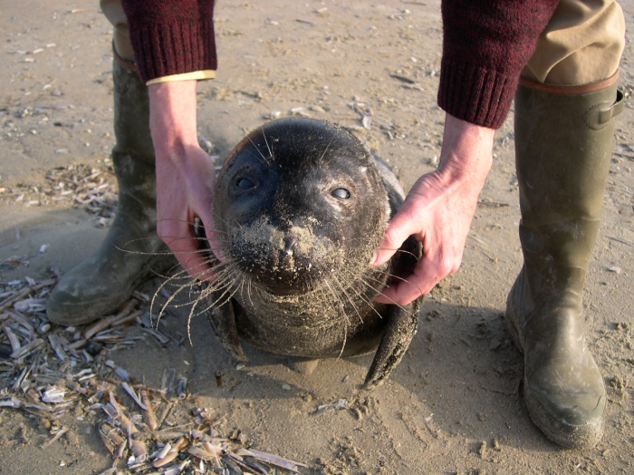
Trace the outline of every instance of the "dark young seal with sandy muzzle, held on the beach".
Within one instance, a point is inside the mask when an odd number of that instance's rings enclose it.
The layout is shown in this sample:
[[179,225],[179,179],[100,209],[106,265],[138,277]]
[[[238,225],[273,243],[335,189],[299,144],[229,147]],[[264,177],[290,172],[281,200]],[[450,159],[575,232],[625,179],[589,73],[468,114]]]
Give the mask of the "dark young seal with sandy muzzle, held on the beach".
[[418,262],[408,239],[370,267],[404,199],[389,167],[341,127],[311,119],[270,121],[248,134],[216,179],[213,216],[223,263],[203,295],[221,344],[240,341],[300,358],[376,350],[365,386],[389,376],[416,333],[419,300],[374,302]]

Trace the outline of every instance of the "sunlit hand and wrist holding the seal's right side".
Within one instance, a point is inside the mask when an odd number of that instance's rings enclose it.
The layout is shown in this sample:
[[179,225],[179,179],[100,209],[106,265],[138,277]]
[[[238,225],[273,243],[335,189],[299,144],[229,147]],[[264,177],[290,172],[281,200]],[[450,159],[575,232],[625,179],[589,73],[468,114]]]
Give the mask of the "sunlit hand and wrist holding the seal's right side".
[[423,255],[414,273],[395,279],[378,302],[407,305],[460,267],[477,199],[491,170],[494,134],[446,114],[437,170],[420,177],[409,191],[370,265],[387,262],[409,236],[422,243]]

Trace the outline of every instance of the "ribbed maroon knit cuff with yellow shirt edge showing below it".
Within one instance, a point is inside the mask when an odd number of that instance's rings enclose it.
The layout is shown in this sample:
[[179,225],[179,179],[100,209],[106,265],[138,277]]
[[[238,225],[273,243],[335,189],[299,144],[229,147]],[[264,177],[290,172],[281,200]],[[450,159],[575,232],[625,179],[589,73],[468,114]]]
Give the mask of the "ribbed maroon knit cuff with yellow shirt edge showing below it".
[[130,40],[143,82],[217,67],[212,18],[130,28]]

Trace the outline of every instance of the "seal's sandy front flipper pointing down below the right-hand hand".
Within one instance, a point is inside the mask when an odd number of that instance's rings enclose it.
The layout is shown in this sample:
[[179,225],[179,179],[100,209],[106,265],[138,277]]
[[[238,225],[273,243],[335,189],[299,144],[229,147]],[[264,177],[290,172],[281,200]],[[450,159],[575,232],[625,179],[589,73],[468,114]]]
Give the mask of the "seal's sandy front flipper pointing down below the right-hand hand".
[[389,376],[400,363],[403,354],[418,328],[418,310],[420,303],[415,300],[409,305],[389,306],[389,323],[381,338],[377,353],[370,366],[363,386],[372,389]]

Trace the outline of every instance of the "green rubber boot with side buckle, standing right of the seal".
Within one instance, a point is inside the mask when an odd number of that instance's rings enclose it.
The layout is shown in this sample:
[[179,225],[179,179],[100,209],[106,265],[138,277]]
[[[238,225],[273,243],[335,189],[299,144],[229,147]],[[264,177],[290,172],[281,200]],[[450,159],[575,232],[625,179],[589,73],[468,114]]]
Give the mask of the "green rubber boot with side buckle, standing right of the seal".
[[600,441],[604,424],[605,385],[586,344],[581,295],[623,95],[616,83],[589,93],[562,89],[521,85],[515,95],[524,267],[506,325],[524,353],[533,422],[552,441],[580,449]]

